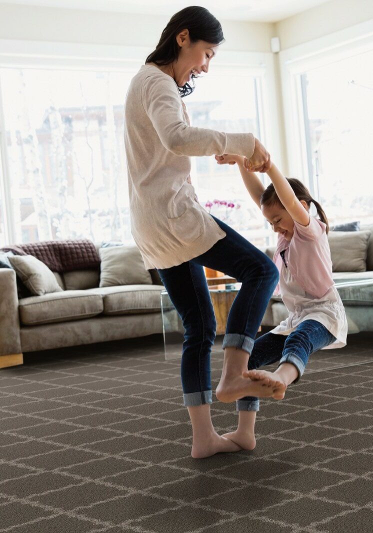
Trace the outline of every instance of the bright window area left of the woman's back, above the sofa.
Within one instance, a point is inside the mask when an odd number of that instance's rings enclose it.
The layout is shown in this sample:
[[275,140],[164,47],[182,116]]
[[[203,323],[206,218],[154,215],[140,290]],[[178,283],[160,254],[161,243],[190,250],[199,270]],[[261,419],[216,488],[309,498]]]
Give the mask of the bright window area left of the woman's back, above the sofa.
[[136,70],[0,70],[17,242],[132,242],[123,111]]

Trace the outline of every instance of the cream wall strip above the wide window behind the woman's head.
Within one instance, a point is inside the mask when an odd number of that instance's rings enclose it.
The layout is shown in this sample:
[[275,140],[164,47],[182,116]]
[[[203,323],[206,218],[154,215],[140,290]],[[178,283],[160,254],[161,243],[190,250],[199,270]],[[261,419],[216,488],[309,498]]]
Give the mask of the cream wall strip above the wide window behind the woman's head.
[[[149,46],[153,49],[172,15],[172,9],[169,17],[163,17],[0,4],[0,39]],[[272,23],[221,22],[226,39],[224,50],[270,51]]]

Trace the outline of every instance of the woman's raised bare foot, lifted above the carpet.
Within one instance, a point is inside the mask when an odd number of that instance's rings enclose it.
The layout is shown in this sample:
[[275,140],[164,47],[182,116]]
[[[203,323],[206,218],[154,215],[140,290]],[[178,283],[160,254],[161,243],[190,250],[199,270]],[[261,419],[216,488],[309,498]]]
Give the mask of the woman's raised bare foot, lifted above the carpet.
[[258,377],[248,379],[250,376],[248,376],[247,372],[239,376],[222,376],[216,387],[216,398],[225,403],[239,400],[245,396],[274,398],[274,394],[277,394],[277,389],[284,384],[277,379],[273,379],[273,374],[270,372],[266,372],[266,374],[269,374],[269,376],[262,376],[260,379]]

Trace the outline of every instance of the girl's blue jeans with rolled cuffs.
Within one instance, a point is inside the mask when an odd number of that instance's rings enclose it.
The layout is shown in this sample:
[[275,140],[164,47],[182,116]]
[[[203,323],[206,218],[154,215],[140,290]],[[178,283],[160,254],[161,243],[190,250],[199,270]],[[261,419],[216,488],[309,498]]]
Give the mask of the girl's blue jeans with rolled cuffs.
[[[279,361],[278,366],[282,363],[292,363],[298,370],[298,377],[293,382],[297,383],[304,373],[311,353],[325,348],[335,340],[321,322],[304,320],[289,335],[266,333],[258,337],[249,358],[248,369],[253,370],[276,361]],[[236,403],[238,411],[259,410],[259,399],[254,396],[241,398]]]

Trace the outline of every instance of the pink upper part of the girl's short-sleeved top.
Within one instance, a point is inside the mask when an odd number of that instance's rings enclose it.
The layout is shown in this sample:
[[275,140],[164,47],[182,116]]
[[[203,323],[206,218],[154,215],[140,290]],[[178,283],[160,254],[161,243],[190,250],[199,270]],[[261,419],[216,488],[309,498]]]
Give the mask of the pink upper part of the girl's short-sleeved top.
[[[273,262],[281,272],[280,252],[285,250],[285,261],[290,273],[307,293],[317,298],[322,298],[334,285],[330,248],[325,230],[326,224],[314,216],[310,216],[310,223],[307,226],[294,222],[293,238],[289,242],[279,233],[273,256]],[[274,294],[279,293],[280,286],[277,285]]]

